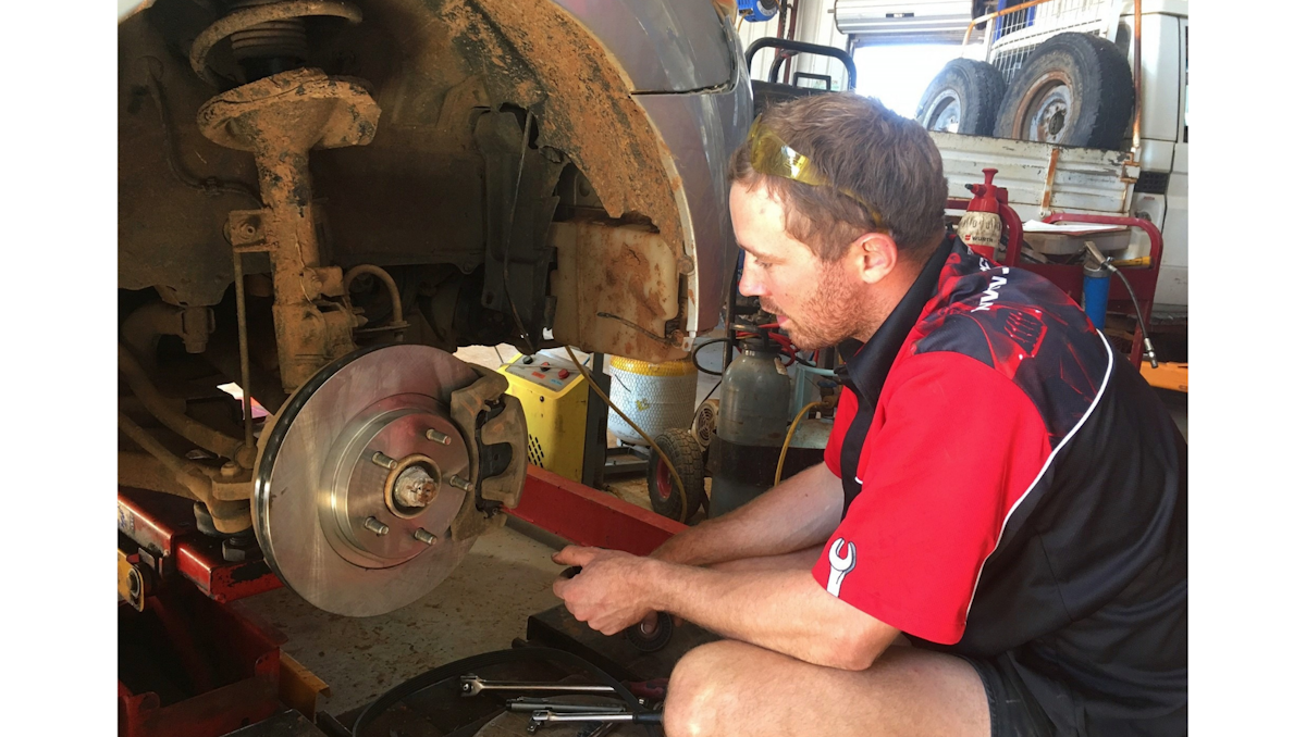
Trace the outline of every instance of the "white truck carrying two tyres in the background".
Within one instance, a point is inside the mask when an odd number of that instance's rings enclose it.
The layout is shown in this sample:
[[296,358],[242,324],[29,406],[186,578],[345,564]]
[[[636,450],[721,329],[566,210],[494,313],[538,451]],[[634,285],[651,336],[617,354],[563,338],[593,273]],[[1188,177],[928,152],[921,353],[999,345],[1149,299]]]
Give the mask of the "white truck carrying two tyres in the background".
[[[942,13],[951,5],[871,4],[887,13],[909,12],[899,5]],[[1151,220],[1165,243],[1151,322],[1185,326],[1187,0],[1141,0],[1138,10],[1132,0],[1021,8],[973,18],[966,35],[982,40],[964,43],[963,56],[922,95],[917,119],[943,155],[949,197],[969,198],[965,185],[983,181],[982,170],[991,167],[1023,220],[1051,211]],[[1135,230],[1121,258],[1144,257],[1148,245]]]

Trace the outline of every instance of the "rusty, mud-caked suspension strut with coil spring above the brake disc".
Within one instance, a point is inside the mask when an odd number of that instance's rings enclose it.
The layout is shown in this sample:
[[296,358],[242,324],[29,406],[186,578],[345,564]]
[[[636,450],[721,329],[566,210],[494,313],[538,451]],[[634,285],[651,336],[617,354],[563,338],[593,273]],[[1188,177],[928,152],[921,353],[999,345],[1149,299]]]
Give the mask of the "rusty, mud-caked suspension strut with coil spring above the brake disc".
[[[255,157],[264,207],[231,211],[227,231],[238,273],[244,271],[239,263],[244,253],[265,252],[272,261],[273,323],[287,393],[351,352],[360,326],[345,299],[341,269],[323,263],[321,213],[312,197],[308,153],[366,146],[380,119],[380,107],[358,81],[303,65],[306,16],[362,21],[358,8],[338,0],[243,0],[191,47],[195,72],[218,85],[222,77],[208,67],[209,52],[230,38],[232,55],[251,80],[204,103],[197,123],[210,141]],[[242,367],[247,353],[242,340]]]

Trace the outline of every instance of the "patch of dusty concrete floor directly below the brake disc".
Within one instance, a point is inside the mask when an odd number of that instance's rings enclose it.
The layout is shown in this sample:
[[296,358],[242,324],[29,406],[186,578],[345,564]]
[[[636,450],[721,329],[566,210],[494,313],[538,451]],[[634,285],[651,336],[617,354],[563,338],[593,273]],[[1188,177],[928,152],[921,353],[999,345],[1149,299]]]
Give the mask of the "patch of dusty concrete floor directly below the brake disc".
[[319,710],[341,715],[424,670],[512,646],[526,618],[556,607],[552,548],[499,528],[483,535],[435,591],[380,617],[342,617],[278,588],[232,604],[279,630],[282,646],[325,681]]

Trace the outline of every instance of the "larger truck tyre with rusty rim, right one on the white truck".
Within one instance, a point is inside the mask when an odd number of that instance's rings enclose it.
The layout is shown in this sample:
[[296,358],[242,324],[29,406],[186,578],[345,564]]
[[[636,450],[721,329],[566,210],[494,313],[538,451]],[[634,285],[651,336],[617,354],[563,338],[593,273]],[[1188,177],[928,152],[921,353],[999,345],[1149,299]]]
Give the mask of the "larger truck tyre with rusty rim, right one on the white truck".
[[1132,115],[1134,76],[1121,50],[1096,35],[1063,33],[1038,44],[1021,65],[993,134],[1115,149]]

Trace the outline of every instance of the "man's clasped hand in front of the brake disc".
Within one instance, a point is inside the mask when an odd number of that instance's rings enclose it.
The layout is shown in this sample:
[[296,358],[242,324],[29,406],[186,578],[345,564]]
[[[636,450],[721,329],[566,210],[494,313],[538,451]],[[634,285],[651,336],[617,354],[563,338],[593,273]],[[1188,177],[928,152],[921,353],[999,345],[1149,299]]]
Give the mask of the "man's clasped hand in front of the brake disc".
[[648,558],[568,545],[554,553],[554,562],[584,569],[575,578],[555,580],[554,594],[590,629],[615,635],[653,612],[646,586],[652,562]]

